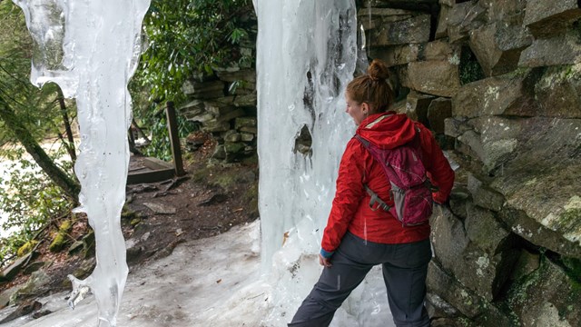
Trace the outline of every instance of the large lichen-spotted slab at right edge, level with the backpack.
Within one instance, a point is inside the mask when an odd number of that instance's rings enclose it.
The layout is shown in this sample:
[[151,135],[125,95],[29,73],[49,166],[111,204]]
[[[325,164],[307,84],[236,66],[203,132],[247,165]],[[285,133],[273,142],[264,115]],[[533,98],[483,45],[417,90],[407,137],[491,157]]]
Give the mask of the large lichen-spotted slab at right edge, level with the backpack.
[[517,148],[490,187],[507,203],[513,232],[532,243],[581,257],[581,119],[520,121]]

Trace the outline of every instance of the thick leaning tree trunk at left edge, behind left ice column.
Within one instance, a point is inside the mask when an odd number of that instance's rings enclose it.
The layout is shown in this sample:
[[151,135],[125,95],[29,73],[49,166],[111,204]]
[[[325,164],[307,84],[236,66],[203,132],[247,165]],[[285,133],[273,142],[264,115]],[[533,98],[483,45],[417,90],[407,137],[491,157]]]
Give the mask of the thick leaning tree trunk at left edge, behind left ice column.
[[0,119],[5,123],[5,126],[11,130],[18,141],[23,144],[26,152],[32,155],[34,161],[43,169],[44,173],[61,189],[64,193],[78,202],[79,192],[81,186],[76,183],[68,174],[64,173],[54,161],[46,154],[43,148],[34,140],[34,137],[25,125],[22,124],[14,111],[5,103],[0,95]]

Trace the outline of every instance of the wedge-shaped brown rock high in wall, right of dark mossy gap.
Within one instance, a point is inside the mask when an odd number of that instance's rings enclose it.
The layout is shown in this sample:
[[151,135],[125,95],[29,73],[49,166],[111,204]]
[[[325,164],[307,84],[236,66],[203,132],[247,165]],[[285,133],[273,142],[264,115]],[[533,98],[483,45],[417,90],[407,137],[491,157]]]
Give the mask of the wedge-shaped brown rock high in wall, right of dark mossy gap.
[[521,25],[504,22],[483,25],[469,35],[470,49],[487,76],[517,69],[521,52],[533,41]]

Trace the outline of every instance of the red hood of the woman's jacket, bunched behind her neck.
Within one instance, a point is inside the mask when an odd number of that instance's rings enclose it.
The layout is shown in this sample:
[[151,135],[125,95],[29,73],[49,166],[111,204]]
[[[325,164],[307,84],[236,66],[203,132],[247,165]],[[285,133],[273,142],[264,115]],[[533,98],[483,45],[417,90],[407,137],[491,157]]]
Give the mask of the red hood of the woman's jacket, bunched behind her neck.
[[365,118],[359,124],[357,134],[379,147],[393,149],[413,140],[416,129],[406,114],[389,111]]

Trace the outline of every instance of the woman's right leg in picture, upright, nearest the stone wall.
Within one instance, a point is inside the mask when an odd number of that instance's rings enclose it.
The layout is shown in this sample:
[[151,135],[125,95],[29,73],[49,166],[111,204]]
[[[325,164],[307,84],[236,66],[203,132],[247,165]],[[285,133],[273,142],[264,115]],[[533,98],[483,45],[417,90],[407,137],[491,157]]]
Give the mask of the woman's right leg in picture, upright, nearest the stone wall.
[[431,260],[428,240],[393,244],[389,261],[383,263],[383,279],[388,288],[389,309],[398,327],[428,327],[424,300],[426,276]]

